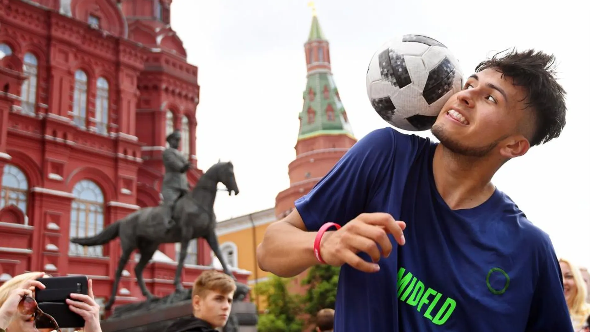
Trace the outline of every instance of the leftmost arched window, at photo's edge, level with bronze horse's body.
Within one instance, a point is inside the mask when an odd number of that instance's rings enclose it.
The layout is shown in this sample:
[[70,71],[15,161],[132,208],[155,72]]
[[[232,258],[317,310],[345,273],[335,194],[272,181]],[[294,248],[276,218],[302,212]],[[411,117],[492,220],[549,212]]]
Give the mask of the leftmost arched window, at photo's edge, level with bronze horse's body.
[[0,209],[8,205],[16,205],[25,215],[27,214],[27,196],[29,183],[27,176],[17,166],[4,165],[2,175],[2,199]]

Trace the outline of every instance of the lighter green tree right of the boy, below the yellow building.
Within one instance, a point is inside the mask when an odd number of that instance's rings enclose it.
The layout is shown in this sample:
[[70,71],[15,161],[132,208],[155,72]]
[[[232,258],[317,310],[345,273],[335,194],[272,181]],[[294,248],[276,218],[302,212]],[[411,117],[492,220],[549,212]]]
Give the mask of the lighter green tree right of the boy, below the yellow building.
[[301,332],[303,320],[301,296],[289,293],[292,278],[272,275],[267,281],[258,284],[254,291],[256,296],[266,298],[267,309],[258,317],[260,332]]

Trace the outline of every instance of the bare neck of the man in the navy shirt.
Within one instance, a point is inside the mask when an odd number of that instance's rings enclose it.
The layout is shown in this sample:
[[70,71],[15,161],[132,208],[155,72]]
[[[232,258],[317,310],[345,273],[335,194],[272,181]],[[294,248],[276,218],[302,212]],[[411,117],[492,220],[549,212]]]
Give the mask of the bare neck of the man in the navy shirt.
[[470,209],[493,195],[491,178],[500,165],[499,160],[459,156],[438,144],[432,172],[438,193],[451,209]]

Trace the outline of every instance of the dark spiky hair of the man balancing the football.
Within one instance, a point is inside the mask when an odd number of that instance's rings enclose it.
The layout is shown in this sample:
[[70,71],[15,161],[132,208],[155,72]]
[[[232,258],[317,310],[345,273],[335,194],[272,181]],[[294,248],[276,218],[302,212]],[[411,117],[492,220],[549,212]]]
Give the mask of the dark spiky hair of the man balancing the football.
[[491,68],[512,78],[514,85],[525,88],[526,105],[535,112],[531,146],[559,137],[565,126],[566,106],[565,90],[555,78],[555,56],[535,50],[513,49],[503,57],[499,57],[500,53],[478,64],[476,73]]

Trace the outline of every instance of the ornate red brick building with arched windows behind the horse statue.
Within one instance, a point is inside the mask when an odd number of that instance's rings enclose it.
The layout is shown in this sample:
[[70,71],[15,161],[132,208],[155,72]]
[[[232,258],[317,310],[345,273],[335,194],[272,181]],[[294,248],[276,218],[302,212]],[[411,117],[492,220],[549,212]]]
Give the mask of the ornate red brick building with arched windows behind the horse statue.
[[[173,129],[196,169],[198,69],[186,62],[170,6],[0,0],[0,282],[25,271],[86,274],[106,298],[119,241],[83,248],[69,238],[158,205]],[[191,185],[201,174],[189,173]],[[175,260],[176,246],[162,245],[146,268],[155,295],[173,290]],[[211,264],[205,241],[194,241],[186,264],[189,285]],[[117,304],[142,300],[134,265]]]

